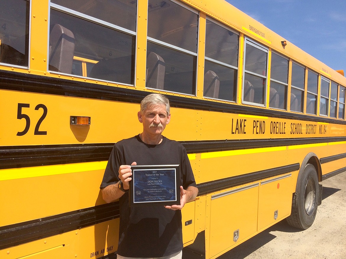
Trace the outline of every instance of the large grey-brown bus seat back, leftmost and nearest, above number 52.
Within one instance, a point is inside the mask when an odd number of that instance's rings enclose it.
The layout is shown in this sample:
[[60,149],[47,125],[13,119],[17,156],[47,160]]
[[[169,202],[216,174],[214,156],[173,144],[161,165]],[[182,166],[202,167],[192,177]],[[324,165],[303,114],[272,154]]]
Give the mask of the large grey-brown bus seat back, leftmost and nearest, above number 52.
[[71,74],[74,54],[74,35],[60,24],[49,34],[49,70]]

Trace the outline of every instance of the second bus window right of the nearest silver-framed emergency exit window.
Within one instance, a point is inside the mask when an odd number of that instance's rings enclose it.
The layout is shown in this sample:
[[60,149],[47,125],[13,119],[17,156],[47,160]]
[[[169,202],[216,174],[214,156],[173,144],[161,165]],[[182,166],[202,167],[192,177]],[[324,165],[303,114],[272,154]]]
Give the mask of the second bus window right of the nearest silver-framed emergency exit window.
[[292,62],[291,111],[303,112],[305,68]]

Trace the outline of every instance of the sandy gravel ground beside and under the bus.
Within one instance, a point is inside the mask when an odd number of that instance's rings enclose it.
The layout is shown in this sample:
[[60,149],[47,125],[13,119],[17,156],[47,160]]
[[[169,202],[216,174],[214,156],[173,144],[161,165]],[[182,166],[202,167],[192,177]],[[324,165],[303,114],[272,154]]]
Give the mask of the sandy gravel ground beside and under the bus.
[[322,204],[307,230],[283,220],[218,259],[345,259],[346,172],[322,182]]

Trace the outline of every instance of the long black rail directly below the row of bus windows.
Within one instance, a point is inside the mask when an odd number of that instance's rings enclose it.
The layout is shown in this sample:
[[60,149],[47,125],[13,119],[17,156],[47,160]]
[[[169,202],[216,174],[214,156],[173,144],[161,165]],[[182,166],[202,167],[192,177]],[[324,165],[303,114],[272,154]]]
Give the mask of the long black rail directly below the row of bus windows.
[[[51,78],[48,76],[23,74],[14,71],[0,71],[0,89],[113,100],[137,104],[140,103],[143,97],[149,94],[149,92],[135,90],[133,88],[120,88],[75,80]],[[170,95],[169,99],[172,107],[346,125],[345,120],[290,113],[260,107],[218,103],[173,95]]]

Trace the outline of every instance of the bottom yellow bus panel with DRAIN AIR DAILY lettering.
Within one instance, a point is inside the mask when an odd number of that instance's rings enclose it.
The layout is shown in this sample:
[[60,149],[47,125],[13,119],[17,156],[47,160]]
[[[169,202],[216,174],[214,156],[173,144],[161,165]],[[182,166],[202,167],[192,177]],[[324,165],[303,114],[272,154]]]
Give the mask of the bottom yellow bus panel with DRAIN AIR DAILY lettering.
[[99,258],[118,249],[119,219],[0,250],[0,258]]

